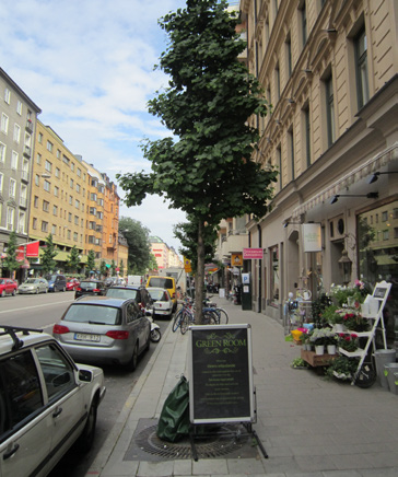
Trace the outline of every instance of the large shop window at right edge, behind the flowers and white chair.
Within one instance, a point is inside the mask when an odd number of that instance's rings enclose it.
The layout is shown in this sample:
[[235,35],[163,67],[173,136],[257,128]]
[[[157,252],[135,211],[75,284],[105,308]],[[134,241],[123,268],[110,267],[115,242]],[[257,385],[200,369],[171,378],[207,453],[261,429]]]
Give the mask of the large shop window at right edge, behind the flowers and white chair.
[[[393,283],[384,309],[387,341],[398,342],[398,201],[358,216],[360,278],[373,290],[385,280]],[[383,220],[378,220],[383,218]],[[397,336],[395,335],[397,333]]]

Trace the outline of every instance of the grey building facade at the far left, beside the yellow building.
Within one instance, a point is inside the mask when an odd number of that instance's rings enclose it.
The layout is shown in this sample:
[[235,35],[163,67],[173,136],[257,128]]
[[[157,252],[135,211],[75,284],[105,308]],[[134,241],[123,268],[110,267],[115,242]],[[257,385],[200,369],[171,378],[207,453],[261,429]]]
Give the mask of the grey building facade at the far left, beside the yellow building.
[[[17,244],[28,241],[34,135],[38,106],[0,68],[0,254],[16,232]],[[23,265],[23,264],[22,264]],[[7,274],[7,270],[0,270]],[[16,271],[21,281],[23,270]]]

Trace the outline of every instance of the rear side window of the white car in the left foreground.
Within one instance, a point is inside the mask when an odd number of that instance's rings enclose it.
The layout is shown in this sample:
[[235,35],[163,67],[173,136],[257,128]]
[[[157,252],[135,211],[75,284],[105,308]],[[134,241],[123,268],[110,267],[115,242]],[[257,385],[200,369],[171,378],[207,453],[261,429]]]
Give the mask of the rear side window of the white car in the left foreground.
[[43,406],[40,382],[30,351],[0,362],[0,388],[9,415],[3,432],[16,427]]

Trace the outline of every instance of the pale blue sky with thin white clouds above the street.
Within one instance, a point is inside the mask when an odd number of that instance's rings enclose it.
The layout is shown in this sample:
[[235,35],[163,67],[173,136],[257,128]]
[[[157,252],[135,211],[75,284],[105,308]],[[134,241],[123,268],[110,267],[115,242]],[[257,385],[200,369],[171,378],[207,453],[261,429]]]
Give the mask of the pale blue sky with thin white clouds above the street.
[[[147,103],[167,86],[154,70],[167,37],[157,20],[185,0],[1,0],[0,67],[42,109],[66,147],[117,183],[149,171],[140,143],[171,136]],[[122,198],[124,191],[118,187]],[[150,196],[130,217],[176,252],[185,213]]]

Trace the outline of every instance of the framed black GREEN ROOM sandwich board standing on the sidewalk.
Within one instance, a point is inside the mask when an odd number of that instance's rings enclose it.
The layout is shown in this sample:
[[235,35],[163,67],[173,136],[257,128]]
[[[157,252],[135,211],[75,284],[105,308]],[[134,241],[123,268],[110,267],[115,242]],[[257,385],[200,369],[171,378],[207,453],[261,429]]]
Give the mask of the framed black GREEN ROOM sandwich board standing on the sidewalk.
[[254,422],[250,325],[189,328],[191,423]]

